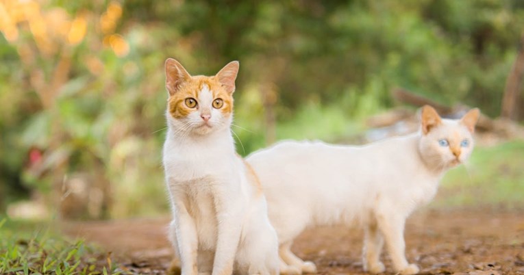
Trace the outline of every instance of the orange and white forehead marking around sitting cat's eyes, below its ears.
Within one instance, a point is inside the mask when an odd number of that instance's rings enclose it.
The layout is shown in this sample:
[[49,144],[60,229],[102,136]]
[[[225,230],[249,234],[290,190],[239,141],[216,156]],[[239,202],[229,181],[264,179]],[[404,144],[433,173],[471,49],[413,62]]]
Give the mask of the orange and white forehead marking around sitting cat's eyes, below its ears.
[[186,106],[184,101],[190,97],[196,99],[199,106],[211,106],[214,99],[222,99],[224,104],[220,112],[224,116],[232,113],[233,96],[225,91],[216,77],[198,75],[182,83],[179,90],[169,97],[169,113],[173,118],[185,118],[199,109]]

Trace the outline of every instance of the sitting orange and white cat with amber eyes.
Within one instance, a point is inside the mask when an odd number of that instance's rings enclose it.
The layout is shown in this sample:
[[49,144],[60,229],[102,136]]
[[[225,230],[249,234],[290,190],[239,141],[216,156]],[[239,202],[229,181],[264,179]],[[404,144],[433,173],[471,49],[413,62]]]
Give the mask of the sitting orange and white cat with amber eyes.
[[278,242],[258,178],[230,130],[238,62],[190,76],[165,64],[169,92],[163,163],[182,275],[278,274]]

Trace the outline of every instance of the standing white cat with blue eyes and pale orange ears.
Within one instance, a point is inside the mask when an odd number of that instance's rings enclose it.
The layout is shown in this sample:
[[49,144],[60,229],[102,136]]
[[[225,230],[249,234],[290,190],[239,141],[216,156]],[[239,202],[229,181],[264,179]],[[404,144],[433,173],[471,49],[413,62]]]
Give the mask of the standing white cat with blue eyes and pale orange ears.
[[323,142],[281,142],[259,150],[247,162],[258,174],[279,238],[281,272],[316,272],[290,250],[304,228],[357,224],[364,228],[364,270],[384,272],[384,239],[393,269],[416,274],[403,239],[406,218],[434,197],[442,175],[468,159],[479,110],[460,120],[442,119],[425,106],[421,131],[365,146]]

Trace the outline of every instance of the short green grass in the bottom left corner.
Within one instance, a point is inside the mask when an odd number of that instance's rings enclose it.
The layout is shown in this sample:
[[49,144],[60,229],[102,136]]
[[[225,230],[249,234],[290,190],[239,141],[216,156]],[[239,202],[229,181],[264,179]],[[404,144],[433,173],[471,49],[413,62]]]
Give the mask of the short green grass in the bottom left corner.
[[125,274],[110,254],[69,241],[49,225],[0,215],[0,274]]

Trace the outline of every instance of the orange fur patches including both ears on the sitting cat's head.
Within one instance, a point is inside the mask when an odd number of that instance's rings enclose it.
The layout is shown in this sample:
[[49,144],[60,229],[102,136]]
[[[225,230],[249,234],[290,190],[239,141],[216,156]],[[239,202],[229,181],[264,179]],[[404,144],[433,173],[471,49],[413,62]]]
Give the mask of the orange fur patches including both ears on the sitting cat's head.
[[238,62],[231,62],[215,76],[197,75],[192,77],[176,60],[168,59],[166,61],[166,88],[169,91],[169,113],[173,118],[180,119],[196,112],[199,105],[190,108],[185,101],[188,98],[198,101],[199,92],[203,90],[204,86],[207,86],[212,92],[213,100],[223,100],[223,105],[219,108],[219,111],[224,116],[230,116],[233,112],[232,92],[234,91],[236,73],[238,73]]

